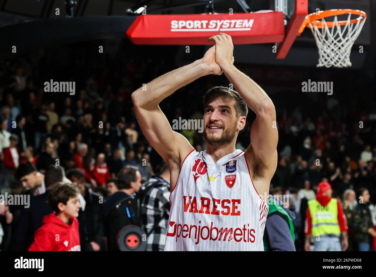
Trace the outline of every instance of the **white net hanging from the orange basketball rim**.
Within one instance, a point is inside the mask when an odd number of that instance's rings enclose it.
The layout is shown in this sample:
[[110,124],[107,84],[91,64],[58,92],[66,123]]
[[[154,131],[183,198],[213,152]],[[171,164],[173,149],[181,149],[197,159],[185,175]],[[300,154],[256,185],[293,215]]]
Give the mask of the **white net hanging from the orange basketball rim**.
[[351,48],[362,31],[366,18],[364,20],[358,19],[356,23],[351,24],[350,16],[351,13],[347,17],[346,25],[338,24],[337,16],[334,17],[332,27],[327,26],[325,18],[321,19],[321,29],[317,28],[315,21],[309,23],[318,47],[317,67],[351,66]]

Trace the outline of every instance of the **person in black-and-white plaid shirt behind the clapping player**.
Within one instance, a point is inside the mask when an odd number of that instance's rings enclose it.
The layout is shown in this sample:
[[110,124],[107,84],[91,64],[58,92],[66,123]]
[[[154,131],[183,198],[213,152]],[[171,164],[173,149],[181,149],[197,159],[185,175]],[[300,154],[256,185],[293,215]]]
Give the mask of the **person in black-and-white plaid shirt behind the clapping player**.
[[143,184],[141,201],[142,228],[147,234],[147,251],[163,251],[170,216],[170,171],[162,167],[159,176]]

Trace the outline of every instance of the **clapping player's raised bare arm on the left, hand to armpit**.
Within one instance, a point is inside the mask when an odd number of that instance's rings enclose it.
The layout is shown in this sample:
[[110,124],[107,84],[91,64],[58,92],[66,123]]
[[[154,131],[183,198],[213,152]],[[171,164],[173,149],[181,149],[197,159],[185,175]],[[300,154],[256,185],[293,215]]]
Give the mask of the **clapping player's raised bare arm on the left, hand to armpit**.
[[202,76],[220,75],[222,71],[215,63],[214,55],[215,46],[211,47],[202,59],[168,72],[132,93],[132,102],[141,129],[170,170],[170,165],[178,165],[180,169],[182,160],[193,147],[183,135],[172,130],[159,108],[159,103],[175,90]]

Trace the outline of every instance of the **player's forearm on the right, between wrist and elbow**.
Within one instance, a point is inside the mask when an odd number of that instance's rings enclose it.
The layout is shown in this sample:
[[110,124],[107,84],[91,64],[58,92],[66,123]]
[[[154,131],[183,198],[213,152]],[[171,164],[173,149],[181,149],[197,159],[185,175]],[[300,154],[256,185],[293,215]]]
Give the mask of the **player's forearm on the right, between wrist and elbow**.
[[247,106],[250,107],[256,115],[267,113],[268,115],[275,117],[273,102],[255,81],[231,63],[221,65],[221,69],[237,92],[239,92]]

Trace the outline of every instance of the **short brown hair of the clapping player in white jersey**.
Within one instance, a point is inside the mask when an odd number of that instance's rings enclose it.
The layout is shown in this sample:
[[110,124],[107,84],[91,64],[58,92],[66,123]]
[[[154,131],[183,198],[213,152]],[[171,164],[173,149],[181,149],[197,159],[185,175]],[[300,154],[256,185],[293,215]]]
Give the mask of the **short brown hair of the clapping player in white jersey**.
[[235,100],[235,111],[237,116],[246,116],[248,115],[248,107],[246,102],[241,98],[240,94],[235,90],[229,89],[228,87],[212,87],[209,89],[202,97],[204,106],[209,99],[218,98],[224,96],[226,98]]

